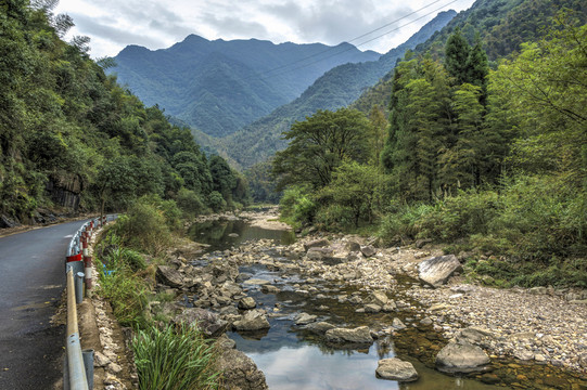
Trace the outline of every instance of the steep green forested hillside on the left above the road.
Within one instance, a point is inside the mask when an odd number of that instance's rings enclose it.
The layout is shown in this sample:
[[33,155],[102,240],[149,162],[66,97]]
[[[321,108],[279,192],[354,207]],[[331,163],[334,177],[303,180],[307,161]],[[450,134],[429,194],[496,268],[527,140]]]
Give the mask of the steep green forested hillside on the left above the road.
[[55,5],[0,6],[2,224],[42,221],[41,207],[124,210],[141,196],[171,214],[246,202],[224,159],[208,159],[189,129],[104,74],[88,38],[61,39],[73,21],[54,15]]

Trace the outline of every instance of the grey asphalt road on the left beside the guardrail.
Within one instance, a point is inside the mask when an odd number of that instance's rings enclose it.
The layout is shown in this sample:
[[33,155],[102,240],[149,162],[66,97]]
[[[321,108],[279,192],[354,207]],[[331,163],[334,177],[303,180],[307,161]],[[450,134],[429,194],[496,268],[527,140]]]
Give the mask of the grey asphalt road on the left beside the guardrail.
[[52,389],[65,326],[51,326],[65,288],[65,250],[84,221],[0,237],[0,389]]

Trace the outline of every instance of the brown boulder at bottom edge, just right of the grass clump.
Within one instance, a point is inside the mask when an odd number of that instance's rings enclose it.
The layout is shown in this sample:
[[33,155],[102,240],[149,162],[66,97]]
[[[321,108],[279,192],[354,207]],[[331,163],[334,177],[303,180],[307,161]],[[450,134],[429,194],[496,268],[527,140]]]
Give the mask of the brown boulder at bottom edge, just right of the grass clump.
[[225,349],[216,362],[216,368],[222,372],[220,389],[268,389],[263,372],[251,358],[239,350]]

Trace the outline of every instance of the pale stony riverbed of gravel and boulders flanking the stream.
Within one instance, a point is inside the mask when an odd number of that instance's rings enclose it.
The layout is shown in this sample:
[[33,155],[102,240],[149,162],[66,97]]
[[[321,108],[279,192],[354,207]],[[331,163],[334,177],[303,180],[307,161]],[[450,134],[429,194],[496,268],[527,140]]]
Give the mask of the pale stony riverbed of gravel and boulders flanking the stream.
[[[256,214],[255,220],[270,224],[276,217]],[[263,337],[270,326],[268,318],[281,315],[281,308],[280,303],[259,307],[253,296],[279,294],[283,281],[307,300],[328,303],[335,297],[340,306],[361,315],[362,324],[355,325],[362,326],[345,326],[322,321],[328,315],[320,310],[299,313],[294,326],[318,334],[324,342],[372,343],[401,335],[396,340],[400,351],[404,348],[441,370],[487,384],[545,389],[587,386],[586,291],[463,284],[455,256],[443,257],[428,246],[373,244],[356,236],[315,235],[292,245],[261,239],[204,256],[197,250],[176,252],[168,265],[158,268],[157,281],[159,291],[179,299],[152,302],[150,310],[176,322],[195,321],[209,336],[221,337],[220,365],[233,368],[231,380],[242,389],[261,389],[265,381],[254,363],[220,335],[235,329],[260,332]],[[253,265],[279,276],[258,280],[241,272]],[[324,290],[329,283],[339,287]],[[327,304],[322,309],[333,311]],[[396,362],[382,362],[385,369],[380,370],[388,373],[392,363]]]

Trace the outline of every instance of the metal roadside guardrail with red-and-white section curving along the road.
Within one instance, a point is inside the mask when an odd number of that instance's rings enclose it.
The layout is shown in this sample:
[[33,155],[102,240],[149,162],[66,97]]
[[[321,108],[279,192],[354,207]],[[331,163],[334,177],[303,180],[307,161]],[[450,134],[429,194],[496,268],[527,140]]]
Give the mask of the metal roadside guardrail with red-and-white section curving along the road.
[[[67,337],[66,354],[63,369],[63,388],[65,390],[88,390],[93,388],[93,350],[81,351],[79,329],[77,326],[77,307],[92,290],[92,258],[88,244],[92,232],[114,221],[116,214],[94,218],[81,225],[76,232],[65,253],[65,272],[67,274]],[[85,288],[84,288],[85,287]]]

